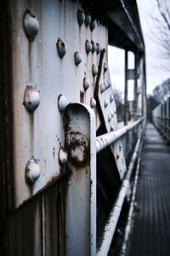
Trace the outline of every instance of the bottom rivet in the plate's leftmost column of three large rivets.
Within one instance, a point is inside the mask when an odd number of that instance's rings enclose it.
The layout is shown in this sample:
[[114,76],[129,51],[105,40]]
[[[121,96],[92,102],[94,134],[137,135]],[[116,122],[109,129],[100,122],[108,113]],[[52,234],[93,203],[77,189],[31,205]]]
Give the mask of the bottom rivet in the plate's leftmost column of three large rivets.
[[31,160],[27,162],[26,165],[26,182],[27,183],[35,183],[40,177],[41,171],[40,166],[38,165],[39,160],[34,156],[31,157]]

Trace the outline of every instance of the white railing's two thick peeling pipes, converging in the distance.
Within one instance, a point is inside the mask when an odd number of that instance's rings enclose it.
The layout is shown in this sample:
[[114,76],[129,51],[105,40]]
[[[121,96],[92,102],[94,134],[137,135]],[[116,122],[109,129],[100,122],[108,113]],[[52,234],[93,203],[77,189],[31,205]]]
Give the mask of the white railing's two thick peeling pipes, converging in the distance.
[[116,131],[111,131],[107,134],[104,134],[104,135],[96,138],[96,151],[98,153],[100,150],[110,146],[111,143],[114,143],[118,138],[127,136],[128,131],[132,131],[133,129],[138,128],[137,143],[134,148],[133,155],[132,155],[130,164],[127,168],[125,177],[122,180],[121,189],[119,190],[119,193],[116,197],[116,201],[115,201],[114,205],[111,207],[111,212],[110,212],[109,218],[105,224],[105,230],[104,230],[100,245],[97,250],[98,256],[105,256],[108,254],[108,252],[110,250],[111,241],[112,241],[112,238],[113,238],[115,230],[116,230],[116,224],[118,222],[118,219],[119,219],[121,211],[122,211],[122,205],[123,205],[125,196],[127,194],[127,189],[129,186],[132,172],[133,172],[133,167],[134,167],[135,161],[137,160],[137,158],[139,156],[139,148],[140,148],[142,133],[144,130],[144,125],[145,125],[145,119],[141,118],[141,119],[133,122],[133,124],[126,125],[126,126],[122,127],[121,129],[118,129]]

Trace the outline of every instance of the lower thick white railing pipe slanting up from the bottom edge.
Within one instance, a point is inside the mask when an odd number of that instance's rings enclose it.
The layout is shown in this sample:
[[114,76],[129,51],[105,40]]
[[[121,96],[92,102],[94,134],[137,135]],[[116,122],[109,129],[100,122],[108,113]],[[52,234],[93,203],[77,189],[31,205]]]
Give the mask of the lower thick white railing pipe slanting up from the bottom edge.
[[116,230],[116,224],[117,224],[117,221],[119,219],[119,216],[120,216],[120,213],[122,210],[123,201],[127,194],[127,188],[129,185],[129,180],[130,180],[131,174],[133,172],[133,166],[134,166],[135,160],[136,160],[138,152],[139,152],[140,140],[141,140],[141,138],[139,138],[136,143],[130,165],[128,166],[127,173],[122,182],[122,187],[119,191],[119,194],[117,195],[116,202],[111,209],[107,223],[105,224],[104,235],[101,239],[101,244],[100,244],[100,246],[98,248],[98,252],[97,252],[98,256],[106,256],[111,247],[111,241],[112,241],[113,235]]

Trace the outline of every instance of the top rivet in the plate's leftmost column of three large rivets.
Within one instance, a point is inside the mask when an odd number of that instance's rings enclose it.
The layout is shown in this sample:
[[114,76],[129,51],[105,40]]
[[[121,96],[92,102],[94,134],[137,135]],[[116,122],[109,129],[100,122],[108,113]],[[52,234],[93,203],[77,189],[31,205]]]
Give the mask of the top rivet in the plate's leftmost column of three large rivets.
[[31,11],[28,9],[26,9],[24,17],[24,29],[29,41],[33,41],[39,30],[39,23],[37,21],[37,18],[32,15]]

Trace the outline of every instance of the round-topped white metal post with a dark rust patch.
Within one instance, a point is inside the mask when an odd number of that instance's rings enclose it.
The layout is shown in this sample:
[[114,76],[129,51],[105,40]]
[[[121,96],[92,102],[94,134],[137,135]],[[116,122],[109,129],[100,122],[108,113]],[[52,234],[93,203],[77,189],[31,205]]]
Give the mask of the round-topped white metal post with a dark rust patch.
[[[95,115],[72,103],[65,112],[68,179],[65,193],[65,255],[96,255]],[[66,190],[66,192],[65,192]]]

